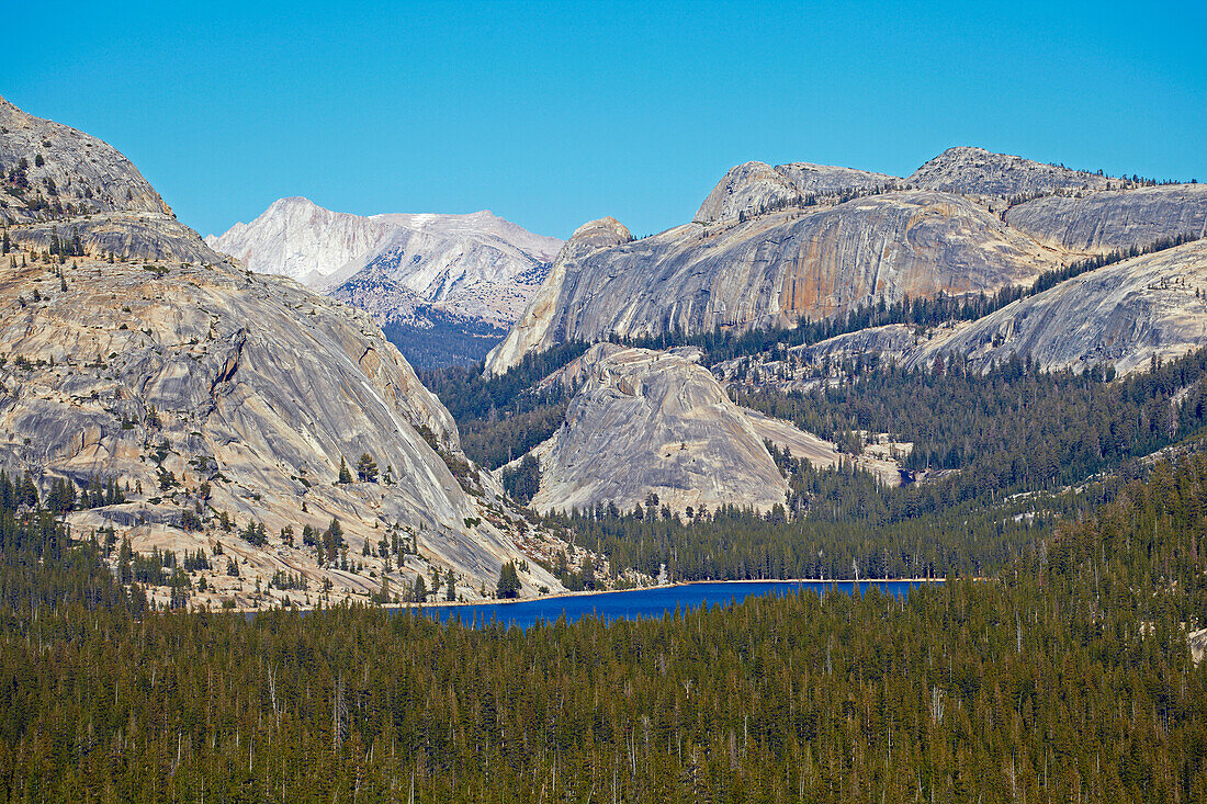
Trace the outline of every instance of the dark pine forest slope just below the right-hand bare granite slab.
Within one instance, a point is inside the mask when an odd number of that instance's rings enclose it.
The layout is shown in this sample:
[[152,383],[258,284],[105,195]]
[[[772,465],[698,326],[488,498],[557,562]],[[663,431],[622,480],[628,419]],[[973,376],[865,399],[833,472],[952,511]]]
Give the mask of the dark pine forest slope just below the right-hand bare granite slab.
[[[756,391],[737,402],[859,449],[858,431],[914,444],[912,470],[960,470],[928,494],[972,500],[1078,483],[1172,444],[1207,424],[1207,350],[1114,379],[1113,372],[1044,372],[1013,356],[987,373],[958,357],[932,368],[842,371],[814,392]],[[917,493],[922,493],[919,489]]]

